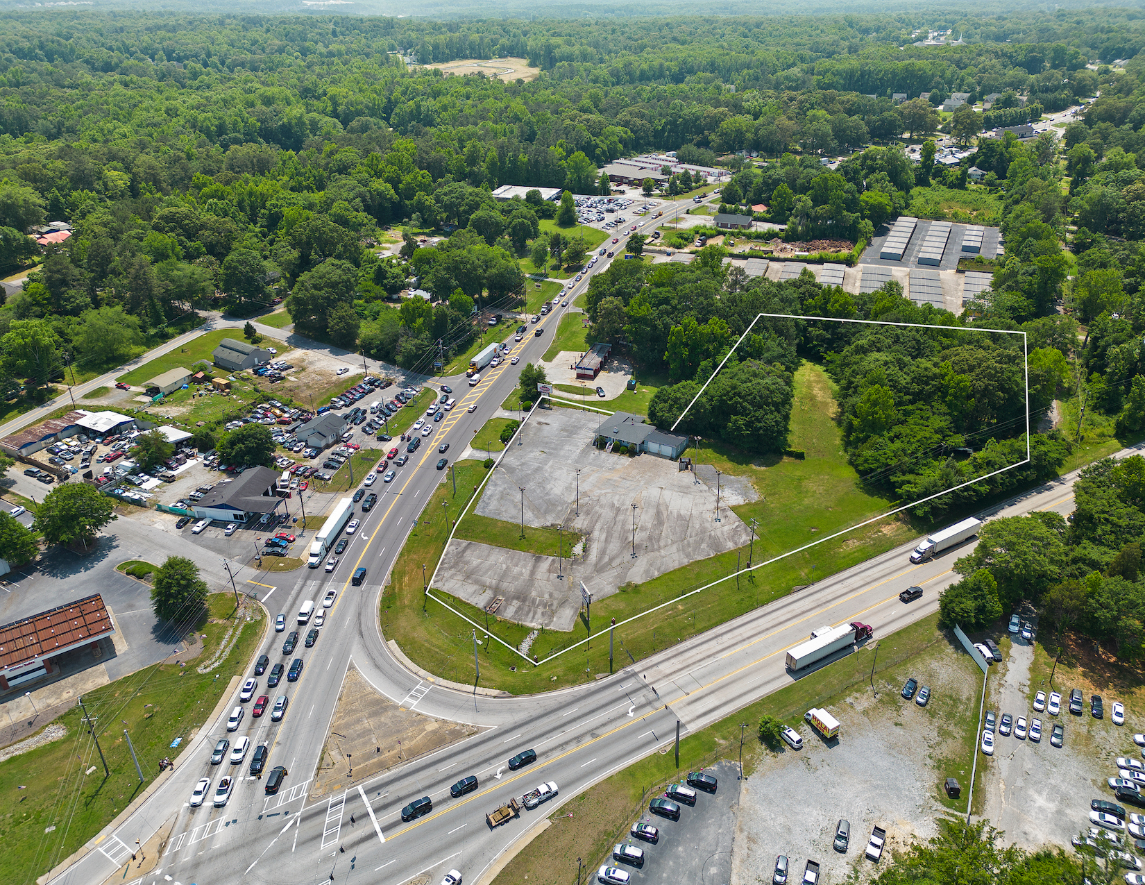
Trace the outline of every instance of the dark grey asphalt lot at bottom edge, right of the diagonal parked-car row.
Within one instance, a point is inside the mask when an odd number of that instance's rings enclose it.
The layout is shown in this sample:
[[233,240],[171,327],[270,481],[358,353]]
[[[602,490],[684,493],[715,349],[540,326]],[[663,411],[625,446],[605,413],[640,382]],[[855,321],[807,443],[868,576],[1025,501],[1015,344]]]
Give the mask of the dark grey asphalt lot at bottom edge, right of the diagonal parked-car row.
[[[613,866],[630,872],[633,882],[725,885],[731,880],[732,840],[735,838],[735,817],[740,807],[740,767],[724,761],[704,771],[719,780],[716,792],[697,790],[700,795],[694,807],[680,806],[679,821],[650,814],[646,801],[640,820],[660,829],[660,841],[649,845],[638,839],[625,839],[643,848],[643,867]],[[687,772],[680,774],[682,781]],[[589,880],[594,882],[597,870],[593,869]]]

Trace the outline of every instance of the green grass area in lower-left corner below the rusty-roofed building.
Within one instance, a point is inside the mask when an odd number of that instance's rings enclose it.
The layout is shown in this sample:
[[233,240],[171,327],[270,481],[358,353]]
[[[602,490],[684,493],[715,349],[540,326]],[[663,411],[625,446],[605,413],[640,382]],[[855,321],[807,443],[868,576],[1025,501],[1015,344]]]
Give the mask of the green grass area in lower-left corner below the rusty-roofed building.
[[[196,666],[220,648],[236,617],[235,598],[229,593],[212,594],[208,605],[208,623],[194,631],[207,637],[199,640],[203,653],[187,667],[150,666],[84,695],[88,713],[101,724],[100,744],[110,777],[104,777],[95,746],[81,728],[78,706],[56,720],[68,729],[65,737],[0,766],[0,797],[8,797],[0,798],[5,835],[0,880],[31,882],[95,836],[155,780],[159,759],[176,756],[179,750],[171,748],[176,737],[187,745],[230,678],[245,672],[262,637],[262,610],[251,607],[234,649],[218,667],[199,673]],[[143,784],[124,740],[125,727],[139,756]],[[90,766],[96,771],[86,775]],[[48,828],[52,832],[46,832]]]

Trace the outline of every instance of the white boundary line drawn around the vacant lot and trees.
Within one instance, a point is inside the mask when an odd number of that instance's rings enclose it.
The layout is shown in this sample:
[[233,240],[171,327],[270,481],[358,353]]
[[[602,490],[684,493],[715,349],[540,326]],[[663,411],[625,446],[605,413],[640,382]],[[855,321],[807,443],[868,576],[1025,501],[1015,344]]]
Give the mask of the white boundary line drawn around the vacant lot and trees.
[[[1006,471],[1012,471],[1016,467],[1020,467],[1024,464],[1029,464],[1029,461],[1030,461],[1030,457],[1029,457],[1030,442],[1029,442],[1029,353],[1028,353],[1028,346],[1029,345],[1028,345],[1028,337],[1027,337],[1026,332],[1010,330],[1010,329],[972,329],[972,327],[968,327],[968,326],[946,326],[946,325],[937,325],[937,324],[929,324],[929,323],[892,323],[892,322],[881,321],[881,319],[845,319],[845,318],[840,318],[840,317],[803,316],[800,314],[758,314],[756,316],[756,318],[751,321],[751,324],[747,327],[747,330],[744,330],[743,334],[740,335],[739,340],[735,342],[735,345],[732,347],[732,349],[728,350],[727,355],[720,361],[720,364],[718,366],[716,366],[716,370],[711,373],[711,377],[704,382],[704,386],[700,388],[700,393],[697,393],[695,395],[695,397],[693,397],[692,402],[688,403],[687,409],[685,409],[680,413],[680,417],[676,419],[676,424],[672,425],[671,429],[674,430],[676,426],[681,420],[684,420],[684,416],[686,416],[688,413],[688,409],[690,409],[693,405],[695,405],[696,401],[700,398],[700,396],[703,394],[703,392],[708,389],[708,385],[710,385],[712,382],[712,380],[716,378],[716,376],[719,374],[720,369],[724,368],[724,364],[728,361],[728,358],[732,356],[732,354],[735,353],[735,349],[741,343],[743,343],[743,340],[748,337],[748,333],[751,332],[751,330],[756,325],[756,323],[759,322],[760,317],[775,317],[777,319],[810,319],[810,321],[829,322],[829,323],[855,323],[855,324],[859,324],[859,325],[902,326],[902,327],[907,327],[907,329],[937,329],[937,330],[947,331],[947,332],[996,332],[996,333],[1008,334],[1008,335],[1021,335],[1022,373],[1024,373],[1024,382],[1025,382],[1025,389],[1026,389],[1026,400],[1025,400],[1025,402],[1026,402],[1026,457],[1022,460],[1016,461],[1014,464],[1011,464],[1011,465],[1009,465],[1006,467],[1002,467],[1001,469],[993,471],[993,472],[987,473],[987,474],[985,474],[982,476],[977,476],[976,479],[968,480],[966,482],[963,482],[963,483],[958,483],[957,485],[953,485],[951,488],[945,489],[943,491],[940,491],[940,492],[935,492],[934,495],[927,495],[925,498],[919,498],[918,500],[910,501],[909,504],[903,504],[901,507],[895,507],[892,511],[887,511],[886,513],[881,513],[879,515],[872,516],[871,519],[864,520],[863,522],[859,522],[859,523],[856,523],[854,526],[848,526],[845,529],[836,531],[834,535],[827,535],[826,537],[819,538],[818,540],[813,540],[811,544],[804,544],[802,547],[796,547],[795,550],[789,550],[785,553],[781,553],[780,555],[773,556],[772,559],[766,560],[764,562],[760,562],[758,564],[749,566],[748,568],[734,571],[731,575],[727,575],[727,576],[725,576],[722,578],[717,578],[716,580],[712,580],[712,582],[710,582],[708,584],[704,584],[702,587],[696,587],[695,590],[689,590],[687,593],[681,593],[680,595],[678,595],[678,596],[676,596],[673,599],[670,599],[668,602],[662,602],[658,606],[654,606],[653,608],[649,608],[649,609],[647,609],[645,611],[641,611],[641,613],[639,613],[637,615],[633,615],[632,617],[626,618],[626,619],[619,622],[618,624],[610,624],[609,625],[610,630],[615,630],[616,627],[621,627],[621,626],[624,626],[625,624],[630,624],[633,621],[638,621],[639,618],[642,618],[642,617],[645,617],[647,615],[650,615],[654,611],[658,611],[662,608],[666,608],[668,606],[676,605],[680,600],[687,599],[688,596],[693,596],[696,593],[702,593],[705,590],[710,590],[711,587],[714,587],[717,584],[722,584],[726,580],[733,580],[733,579],[737,578],[740,575],[744,575],[744,574],[748,574],[750,571],[755,571],[756,569],[763,568],[764,566],[771,566],[773,562],[779,562],[780,560],[787,559],[788,556],[793,556],[796,553],[803,553],[805,550],[811,550],[812,547],[816,547],[820,544],[823,544],[823,543],[826,543],[828,540],[831,540],[834,538],[838,538],[839,536],[846,535],[846,534],[848,534],[851,531],[854,531],[855,529],[861,529],[864,526],[870,526],[871,523],[878,522],[879,520],[884,520],[887,516],[893,516],[897,513],[902,513],[902,511],[909,509],[910,507],[915,507],[915,506],[917,506],[919,504],[925,504],[929,500],[933,500],[934,498],[940,498],[943,495],[949,495],[951,491],[957,491],[958,489],[964,489],[968,485],[973,485],[976,482],[981,482],[982,480],[988,480],[990,476],[997,476],[1000,473],[1005,473]],[[469,512],[469,507],[477,499],[479,493],[483,490],[485,483],[488,483],[489,480],[490,480],[490,477],[493,475],[493,471],[496,471],[496,469],[498,469],[500,467],[502,460],[510,452],[511,447],[514,444],[514,442],[518,441],[518,437],[521,435],[521,432],[524,430],[524,426],[528,424],[529,419],[532,418],[532,413],[537,411],[537,406],[540,405],[540,400],[542,398],[544,398],[544,397],[538,397],[538,400],[534,404],[532,409],[530,409],[529,413],[524,417],[524,420],[521,421],[521,425],[520,425],[520,427],[518,427],[516,433],[513,434],[513,437],[508,441],[508,443],[502,450],[502,453],[497,457],[496,464],[493,464],[492,468],[489,469],[489,472],[485,474],[484,480],[481,481],[481,483],[477,485],[477,489],[474,490],[473,495],[471,496],[469,500],[466,503],[465,507],[461,508],[461,512],[460,512],[460,514],[458,514],[457,520],[453,523],[453,527],[450,529],[449,537],[445,539],[445,546],[441,551],[441,556],[437,560],[437,564],[434,567],[433,576],[429,578],[429,583],[427,584],[426,590],[425,590],[425,594],[427,596],[429,596],[429,599],[432,599],[434,602],[437,602],[443,608],[448,609],[449,611],[452,611],[459,618],[461,618],[463,621],[465,621],[468,624],[471,624],[473,626],[474,631],[481,630],[482,632],[484,632],[487,634],[487,637],[489,639],[496,639],[498,642],[500,642],[500,645],[503,645],[508,650],[513,651],[522,661],[524,661],[528,664],[532,664],[534,666],[540,666],[542,664],[546,664],[546,663],[548,663],[550,661],[552,661],[555,657],[560,657],[561,655],[563,655],[563,654],[566,654],[568,651],[571,651],[572,649],[579,648],[582,645],[585,645],[585,643],[590,642],[591,641],[591,637],[585,637],[584,639],[579,640],[578,642],[574,642],[568,648],[563,648],[560,651],[555,651],[554,654],[550,655],[548,657],[546,657],[546,658],[544,658],[542,661],[534,662],[534,661],[531,661],[529,658],[528,655],[522,654],[519,649],[516,649],[514,646],[508,645],[508,642],[506,642],[505,640],[503,640],[500,637],[498,637],[498,635],[491,633],[490,631],[485,630],[485,627],[482,626],[481,624],[476,623],[475,621],[469,619],[468,617],[466,617],[464,614],[461,614],[460,611],[458,611],[452,606],[450,606],[450,605],[443,602],[442,600],[437,599],[436,596],[434,596],[431,591],[433,590],[434,580],[436,580],[436,578],[437,578],[437,571],[441,569],[441,563],[445,559],[445,553],[449,551],[449,545],[453,540],[453,535],[457,532],[457,526],[465,517],[465,514]]]

